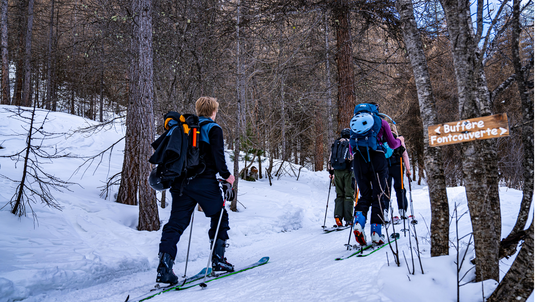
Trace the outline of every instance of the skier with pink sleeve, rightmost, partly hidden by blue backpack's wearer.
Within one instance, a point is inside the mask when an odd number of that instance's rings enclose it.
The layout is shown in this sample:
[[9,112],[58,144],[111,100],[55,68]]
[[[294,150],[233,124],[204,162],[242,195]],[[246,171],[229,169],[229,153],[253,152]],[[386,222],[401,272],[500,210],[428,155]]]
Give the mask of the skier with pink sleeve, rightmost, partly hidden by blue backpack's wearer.
[[[397,138],[398,136],[401,137],[401,135],[398,135],[398,128],[393,123],[390,123],[391,126],[391,132],[394,138]],[[402,159],[402,162],[405,165],[405,169],[400,169],[400,157]],[[409,155],[407,155],[407,150],[405,149],[405,143],[402,141],[402,145],[396,149],[394,149],[394,152],[391,157],[387,159],[387,166],[388,166],[388,177],[387,177],[387,187],[385,188],[385,193],[388,196],[391,196],[391,186],[392,181],[394,180],[394,192],[396,193],[396,200],[398,201],[398,214],[400,217],[394,216],[393,220],[399,219],[407,219],[407,196],[406,196],[406,189],[405,187],[402,188],[402,171],[405,171],[406,176],[410,175],[410,167],[409,167]],[[402,198],[403,197],[403,198]],[[391,205],[391,199],[390,197],[383,197],[383,200],[385,202],[385,209],[384,209],[384,215],[385,220],[389,221],[389,214],[390,214],[390,205]]]

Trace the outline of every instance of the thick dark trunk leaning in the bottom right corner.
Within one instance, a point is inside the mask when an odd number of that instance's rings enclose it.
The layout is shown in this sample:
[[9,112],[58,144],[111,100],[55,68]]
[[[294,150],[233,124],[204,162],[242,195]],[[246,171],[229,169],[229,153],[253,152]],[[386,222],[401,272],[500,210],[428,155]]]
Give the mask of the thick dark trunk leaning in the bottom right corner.
[[526,301],[534,290],[534,219],[514,263],[487,302]]

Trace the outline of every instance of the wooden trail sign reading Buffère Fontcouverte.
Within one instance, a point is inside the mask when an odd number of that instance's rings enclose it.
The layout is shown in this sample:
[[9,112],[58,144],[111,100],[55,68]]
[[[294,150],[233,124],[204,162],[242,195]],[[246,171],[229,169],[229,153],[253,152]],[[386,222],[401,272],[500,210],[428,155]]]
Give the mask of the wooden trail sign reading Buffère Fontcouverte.
[[451,121],[428,127],[430,147],[451,145],[473,140],[486,140],[510,135],[506,113],[493,116]]

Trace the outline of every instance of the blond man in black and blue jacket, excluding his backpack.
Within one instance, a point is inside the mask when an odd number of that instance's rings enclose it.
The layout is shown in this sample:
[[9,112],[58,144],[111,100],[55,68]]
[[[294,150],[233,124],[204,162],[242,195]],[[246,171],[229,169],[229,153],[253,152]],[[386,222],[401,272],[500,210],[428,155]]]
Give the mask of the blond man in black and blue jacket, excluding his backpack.
[[[172,211],[168,223],[162,228],[161,243],[159,245],[159,267],[157,268],[157,282],[176,283],[172,271],[173,260],[178,253],[177,244],[183,231],[190,222],[196,204],[202,207],[206,217],[211,218],[209,240],[212,243],[217,233],[217,241],[213,251],[214,271],[233,271],[233,265],[224,258],[224,250],[228,237],[228,212],[224,210],[221,225],[217,224],[223,204],[222,191],[217,181],[218,173],[226,182],[233,184],[235,177],[228,171],[224,157],[224,139],[222,128],[215,123],[218,111],[218,102],[213,97],[201,97],[196,101],[196,114],[200,117],[200,158],[206,164],[206,169],[195,178],[185,181],[185,175],[176,177],[170,193],[172,195]],[[169,112],[168,114],[171,114]],[[168,116],[167,114],[167,116]],[[179,116],[179,113],[173,112]],[[179,120],[179,118],[178,118]],[[182,183],[183,190],[181,191]],[[223,183],[224,188],[224,183]],[[231,185],[229,185],[231,188]]]

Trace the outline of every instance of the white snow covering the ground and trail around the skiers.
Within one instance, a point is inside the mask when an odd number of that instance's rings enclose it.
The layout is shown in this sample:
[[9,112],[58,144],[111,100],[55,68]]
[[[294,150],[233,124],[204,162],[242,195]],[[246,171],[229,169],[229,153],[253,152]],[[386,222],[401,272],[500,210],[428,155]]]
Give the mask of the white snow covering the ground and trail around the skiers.
[[[6,107],[13,108],[0,106],[0,143],[4,148],[0,149],[0,155],[12,154],[25,143],[22,136],[8,136],[22,130],[19,121],[2,112]],[[42,119],[43,114],[38,118]],[[55,112],[49,114],[45,129],[68,132],[88,124],[96,123]],[[70,147],[71,153],[90,156],[122,136],[121,127],[112,127],[91,136],[62,136],[53,143]],[[34,204],[36,221],[32,215],[15,217],[10,213],[9,205],[0,211],[0,302],[123,302],[128,294],[136,297],[153,288],[160,231],[136,231],[138,207],[115,203],[110,197],[103,199],[97,189],[107,176],[121,170],[122,149],[123,145],[116,147],[110,160],[106,155],[100,167],[96,169],[94,163],[84,175],[82,169],[71,177],[83,159],[56,159],[44,165],[49,173],[66,180],[70,178],[71,182],[81,185],[71,186],[72,192],[54,192],[56,200],[63,206],[62,211]],[[0,164],[0,174],[12,179],[20,177],[20,164],[15,168],[15,163],[9,159],[0,159]],[[232,167],[231,162],[229,167]],[[395,265],[388,246],[367,257],[334,260],[349,253],[344,243],[348,242],[350,233],[347,230],[324,233],[320,227],[327,203],[328,172],[303,169],[299,181],[288,176],[273,179],[272,184],[267,178],[239,182],[239,202],[244,206],[238,204],[239,212],[229,212],[231,239],[228,241],[230,247],[226,249],[226,257],[236,267],[256,262],[262,256],[269,256],[269,263],[211,282],[203,291],[196,286],[161,294],[151,301],[456,301],[456,265],[453,263],[456,250],[452,248],[449,256],[430,258],[429,246],[424,239],[428,236],[430,221],[426,186],[412,185],[414,211],[419,221],[416,231],[425,273],[420,274],[415,255],[415,274],[412,275],[404,261],[403,253],[413,270],[409,239],[404,238],[403,232],[398,240],[400,267]],[[518,215],[521,191],[499,190],[502,235],[506,236]],[[0,207],[9,202],[14,191],[11,181],[0,178]],[[457,187],[447,191],[451,211],[456,203],[458,212],[465,212],[465,189]],[[334,198],[332,188],[326,225],[334,224],[331,218]],[[393,206],[396,206],[395,201]],[[164,209],[159,207],[162,224],[166,223],[169,211],[169,205]],[[399,232],[402,225],[396,227]],[[207,264],[208,228],[209,219],[195,211],[188,276]],[[470,230],[470,221],[465,215],[459,224],[460,234]],[[455,238],[454,224],[450,237]],[[178,244],[174,271],[179,276],[185,269],[187,240],[188,234],[182,236]],[[390,266],[385,252],[388,252]],[[465,258],[464,270],[470,267],[471,256],[470,253]],[[513,258],[501,261],[501,277]],[[495,284],[484,282],[486,297]],[[460,297],[465,302],[482,301],[482,284],[462,286]],[[534,293],[528,301],[533,300]]]

